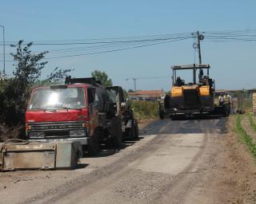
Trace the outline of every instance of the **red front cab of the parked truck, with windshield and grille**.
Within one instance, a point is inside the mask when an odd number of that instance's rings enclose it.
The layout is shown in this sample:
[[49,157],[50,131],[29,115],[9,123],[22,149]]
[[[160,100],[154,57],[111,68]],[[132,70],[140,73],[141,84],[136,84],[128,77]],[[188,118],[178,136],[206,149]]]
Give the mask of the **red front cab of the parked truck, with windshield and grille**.
[[91,108],[90,84],[34,88],[26,110],[26,135],[30,139],[71,139],[90,142],[97,108]]

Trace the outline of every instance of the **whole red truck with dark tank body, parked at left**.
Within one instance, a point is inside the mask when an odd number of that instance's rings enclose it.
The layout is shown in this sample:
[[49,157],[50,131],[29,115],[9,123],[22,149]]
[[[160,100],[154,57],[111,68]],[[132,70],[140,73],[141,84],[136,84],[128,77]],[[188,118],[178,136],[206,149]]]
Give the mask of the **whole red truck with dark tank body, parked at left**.
[[[121,147],[122,131],[130,122],[122,120],[126,118],[120,114],[124,99],[117,90],[122,88],[103,88],[93,77],[66,77],[65,84],[34,88],[26,110],[27,137],[42,142],[78,141],[90,155],[98,153],[100,141],[111,140],[114,147]],[[133,138],[138,138],[137,121],[129,121]]]

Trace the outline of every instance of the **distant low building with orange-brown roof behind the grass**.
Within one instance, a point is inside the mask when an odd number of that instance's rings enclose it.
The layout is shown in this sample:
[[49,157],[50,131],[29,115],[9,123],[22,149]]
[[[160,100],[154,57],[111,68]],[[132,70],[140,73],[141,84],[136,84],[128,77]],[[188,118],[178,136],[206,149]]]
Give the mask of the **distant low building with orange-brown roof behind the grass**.
[[160,100],[166,93],[163,90],[128,92],[130,100]]

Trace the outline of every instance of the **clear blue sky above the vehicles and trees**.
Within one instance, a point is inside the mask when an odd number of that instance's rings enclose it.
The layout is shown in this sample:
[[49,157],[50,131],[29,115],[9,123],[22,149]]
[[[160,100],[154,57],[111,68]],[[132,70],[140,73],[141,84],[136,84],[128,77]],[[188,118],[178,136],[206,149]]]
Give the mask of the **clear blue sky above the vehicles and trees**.
[[[229,31],[256,29],[256,1],[2,1],[0,25],[5,26],[8,41],[66,41],[113,37],[150,36],[195,31]],[[256,37],[255,37],[256,38]],[[2,29],[0,28],[0,41]],[[255,41],[201,41],[202,63],[210,64],[210,76],[216,88],[256,88]],[[90,77],[95,69],[105,71],[126,89],[170,89],[171,65],[198,63],[193,39],[173,41],[111,53],[48,59],[42,79],[55,67],[74,68],[73,77]],[[32,45],[34,51],[68,49],[79,45]],[[14,70],[6,45],[6,73]],[[83,53],[79,51],[78,53]],[[46,57],[50,57],[50,54]],[[0,69],[3,69],[0,45]],[[183,74],[183,73],[182,73]],[[184,73],[186,80],[190,73]],[[139,77],[161,77],[139,79]]]

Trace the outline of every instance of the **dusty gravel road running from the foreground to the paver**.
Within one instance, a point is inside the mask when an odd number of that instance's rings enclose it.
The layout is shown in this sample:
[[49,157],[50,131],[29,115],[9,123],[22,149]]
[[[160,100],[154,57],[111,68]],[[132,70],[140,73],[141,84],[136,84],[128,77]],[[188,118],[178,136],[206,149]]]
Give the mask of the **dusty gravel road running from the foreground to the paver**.
[[139,141],[103,147],[77,170],[1,173],[0,202],[230,203],[232,183],[226,192],[218,186],[225,134],[226,119],[159,120]]

